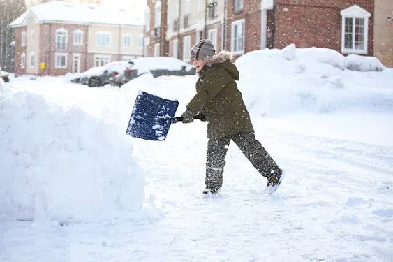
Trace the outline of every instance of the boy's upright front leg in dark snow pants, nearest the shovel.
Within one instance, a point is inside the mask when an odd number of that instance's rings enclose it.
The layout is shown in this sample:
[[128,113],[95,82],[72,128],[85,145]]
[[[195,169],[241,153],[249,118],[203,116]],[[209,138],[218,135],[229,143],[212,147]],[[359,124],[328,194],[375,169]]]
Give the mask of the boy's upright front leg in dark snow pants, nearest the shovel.
[[223,170],[229,143],[230,137],[212,138],[207,142],[205,184],[212,193],[223,185]]

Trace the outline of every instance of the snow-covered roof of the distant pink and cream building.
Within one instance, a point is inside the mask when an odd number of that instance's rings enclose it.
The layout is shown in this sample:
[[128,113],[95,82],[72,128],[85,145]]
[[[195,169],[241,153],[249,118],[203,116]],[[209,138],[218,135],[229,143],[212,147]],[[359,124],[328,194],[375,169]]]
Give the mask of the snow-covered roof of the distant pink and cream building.
[[138,27],[144,23],[144,13],[138,8],[124,10],[110,6],[49,1],[27,10],[10,23],[10,27],[26,25],[30,14],[36,17],[38,23],[120,24]]

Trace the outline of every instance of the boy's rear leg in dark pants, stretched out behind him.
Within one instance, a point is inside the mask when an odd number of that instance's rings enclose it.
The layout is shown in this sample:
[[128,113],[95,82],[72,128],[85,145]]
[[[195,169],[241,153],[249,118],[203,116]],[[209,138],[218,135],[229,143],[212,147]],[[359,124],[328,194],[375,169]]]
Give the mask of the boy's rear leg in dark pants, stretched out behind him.
[[235,136],[232,136],[232,140],[261,175],[267,177],[268,180],[272,176],[278,178],[281,176],[282,170],[255,138],[254,133],[237,133]]

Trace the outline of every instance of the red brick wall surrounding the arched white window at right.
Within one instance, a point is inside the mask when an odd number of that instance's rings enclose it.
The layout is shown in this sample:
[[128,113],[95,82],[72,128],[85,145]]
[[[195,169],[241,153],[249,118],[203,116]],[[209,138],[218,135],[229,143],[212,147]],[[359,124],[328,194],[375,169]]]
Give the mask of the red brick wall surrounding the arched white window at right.
[[[274,47],[332,48],[341,52],[340,11],[357,4],[373,14],[373,0],[278,0]],[[288,11],[284,11],[286,8]],[[373,54],[373,16],[369,18],[368,54]]]

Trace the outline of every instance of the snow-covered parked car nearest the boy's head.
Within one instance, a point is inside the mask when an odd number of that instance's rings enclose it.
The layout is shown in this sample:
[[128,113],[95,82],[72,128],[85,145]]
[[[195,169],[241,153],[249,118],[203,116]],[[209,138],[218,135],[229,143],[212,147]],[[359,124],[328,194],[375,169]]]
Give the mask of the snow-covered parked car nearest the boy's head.
[[163,75],[195,75],[195,68],[175,57],[141,57],[133,59],[132,66],[124,71],[122,83],[150,73],[154,78]]

